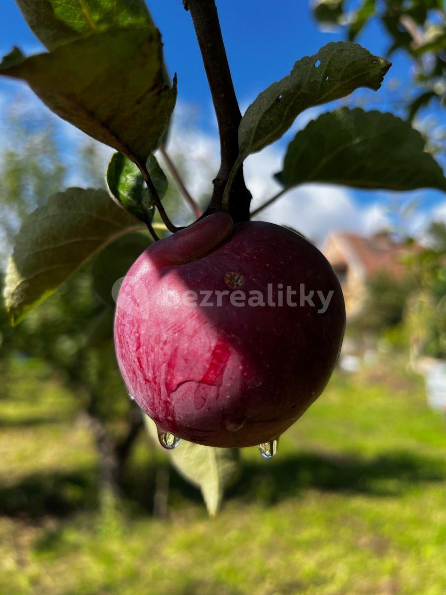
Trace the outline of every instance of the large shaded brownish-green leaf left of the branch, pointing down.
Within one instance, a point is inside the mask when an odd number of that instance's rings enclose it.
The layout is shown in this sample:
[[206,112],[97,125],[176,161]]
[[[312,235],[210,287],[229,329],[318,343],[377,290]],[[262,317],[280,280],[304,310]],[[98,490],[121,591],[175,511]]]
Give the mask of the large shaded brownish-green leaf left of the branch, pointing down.
[[132,161],[146,162],[174,109],[162,43],[152,27],[112,29],[2,67],[52,111]]

